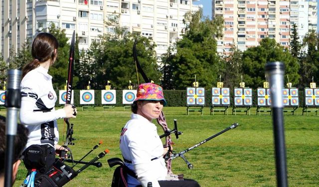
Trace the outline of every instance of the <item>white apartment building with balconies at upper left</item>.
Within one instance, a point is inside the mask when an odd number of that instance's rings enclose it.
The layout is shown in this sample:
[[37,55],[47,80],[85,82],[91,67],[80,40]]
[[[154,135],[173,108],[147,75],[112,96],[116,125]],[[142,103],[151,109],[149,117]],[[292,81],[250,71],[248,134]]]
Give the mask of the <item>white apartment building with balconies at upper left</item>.
[[7,61],[10,48],[17,51],[54,23],[69,38],[76,30],[80,50],[120,26],[153,39],[160,57],[181,37],[184,14],[200,8],[193,1],[199,0],[0,0],[1,55]]

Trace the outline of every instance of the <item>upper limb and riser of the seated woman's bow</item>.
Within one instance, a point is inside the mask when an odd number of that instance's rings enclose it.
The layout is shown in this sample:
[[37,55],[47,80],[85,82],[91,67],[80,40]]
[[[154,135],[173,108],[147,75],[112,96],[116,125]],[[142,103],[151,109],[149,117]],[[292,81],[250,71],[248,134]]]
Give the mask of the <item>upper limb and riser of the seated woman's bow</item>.
[[[144,81],[145,82],[151,82],[150,79],[145,74],[145,72],[143,71],[142,66],[141,66],[141,64],[140,64],[140,62],[138,60],[137,51],[136,51],[136,44],[137,44],[137,40],[134,41],[134,45],[133,45],[134,62],[136,64],[136,66],[137,66],[137,69],[139,70],[139,72],[143,76]],[[160,113],[160,116],[157,119],[157,122],[161,126],[161,128],[163,129],[164,133],[169,131],[163,112]],[[170,146],[172,144],[173,144],[173,142],[171,141],[170,135],[166,136],[164,147],[168,147],[168,154],[171,154]],[[167,167],[167,175],[168,176],[172,176],[173,174],[172,174],[172,171],[171,171],[171,158],[169,156],[168,156],[168,159],[166,159],[166,167]]]

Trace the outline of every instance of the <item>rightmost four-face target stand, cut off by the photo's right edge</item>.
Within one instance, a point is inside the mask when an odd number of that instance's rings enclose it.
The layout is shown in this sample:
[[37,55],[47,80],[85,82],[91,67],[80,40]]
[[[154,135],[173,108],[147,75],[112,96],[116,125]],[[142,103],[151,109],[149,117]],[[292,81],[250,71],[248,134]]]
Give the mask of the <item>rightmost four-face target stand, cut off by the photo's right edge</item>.
[[[312,85],[312,84],[311,84]],[[319,88],[305,88],[305,104],[303,108],[304,113],[315,112],[318,116],[319,111]]]

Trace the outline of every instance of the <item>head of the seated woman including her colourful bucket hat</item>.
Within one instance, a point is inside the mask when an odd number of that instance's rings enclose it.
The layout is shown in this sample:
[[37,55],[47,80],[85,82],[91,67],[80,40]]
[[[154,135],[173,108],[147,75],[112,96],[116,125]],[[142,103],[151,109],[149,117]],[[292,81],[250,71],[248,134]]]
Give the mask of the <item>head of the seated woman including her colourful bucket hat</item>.
[[163,89],[154,83],[143,83],[137,90],[137,97],[132,104],[132,112],[152,121],[160,116],[166,105]]

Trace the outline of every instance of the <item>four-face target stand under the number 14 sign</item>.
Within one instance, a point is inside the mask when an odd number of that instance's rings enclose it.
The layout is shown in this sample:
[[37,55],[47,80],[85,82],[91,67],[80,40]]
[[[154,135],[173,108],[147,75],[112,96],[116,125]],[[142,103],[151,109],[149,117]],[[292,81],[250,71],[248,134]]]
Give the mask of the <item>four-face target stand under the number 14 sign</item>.
[[230,106],[229,88],[213,87],[211,89],[211,106],[210,115],[215,112],[224,112],[228,115],[228,108]]

